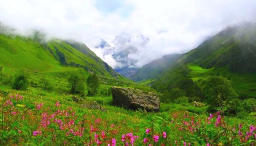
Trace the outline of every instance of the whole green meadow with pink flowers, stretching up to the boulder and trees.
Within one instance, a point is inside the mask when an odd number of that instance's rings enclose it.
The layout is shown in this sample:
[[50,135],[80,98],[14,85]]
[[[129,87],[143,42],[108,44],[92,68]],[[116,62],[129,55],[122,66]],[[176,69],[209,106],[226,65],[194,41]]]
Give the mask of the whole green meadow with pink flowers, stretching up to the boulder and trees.
[[131,111],[112,97],[85,97],[106,111],[87,109],[39,88],[1,86],[1,145],[221,146],[254,145],[255,117],[207,113],[192,103],[161,104],[160,112]]

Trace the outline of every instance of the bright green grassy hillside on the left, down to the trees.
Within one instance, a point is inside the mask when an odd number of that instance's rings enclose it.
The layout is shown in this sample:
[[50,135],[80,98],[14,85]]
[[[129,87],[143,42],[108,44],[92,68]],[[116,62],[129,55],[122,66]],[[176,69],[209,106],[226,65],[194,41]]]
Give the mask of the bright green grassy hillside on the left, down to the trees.
[[41,79],[49,81],[51,90],[69,90],[67,78],[78,73],[84,80],[95,73],[101,81],[99,94],[108,95],[112,85],[151,91],[147,85],[138,85],[114,70],[83,43],[52,39],[44,41],[38,34],[32,37],[0,33],[0,66],[4,84],[10,85],[21,70],[29,76],[31,87],[42,88]]

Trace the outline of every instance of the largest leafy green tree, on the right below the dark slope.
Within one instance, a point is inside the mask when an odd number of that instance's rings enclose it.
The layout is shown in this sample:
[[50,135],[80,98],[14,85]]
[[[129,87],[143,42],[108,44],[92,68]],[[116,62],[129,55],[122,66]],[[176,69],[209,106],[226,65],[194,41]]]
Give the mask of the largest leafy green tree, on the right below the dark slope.
[[235,100],[238,97],[232,88],[232,82],[222,76],[208,77],[203,82],[203,88],[210,110],[223,107],[227,104],[227,101]]

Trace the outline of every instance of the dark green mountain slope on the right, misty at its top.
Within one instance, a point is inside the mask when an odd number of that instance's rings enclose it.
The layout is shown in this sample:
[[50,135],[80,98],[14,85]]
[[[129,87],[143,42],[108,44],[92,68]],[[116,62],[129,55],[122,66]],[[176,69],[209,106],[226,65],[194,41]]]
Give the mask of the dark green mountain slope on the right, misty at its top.
[[[182,54],[150,84],[159,92],[184,90],[189,97],[201,96],[203,79],[220,75],[233,81],[244,97],[256,97],[256,24],[227,27],[195,49]],[[145,75],[147,76],[147,72]]]

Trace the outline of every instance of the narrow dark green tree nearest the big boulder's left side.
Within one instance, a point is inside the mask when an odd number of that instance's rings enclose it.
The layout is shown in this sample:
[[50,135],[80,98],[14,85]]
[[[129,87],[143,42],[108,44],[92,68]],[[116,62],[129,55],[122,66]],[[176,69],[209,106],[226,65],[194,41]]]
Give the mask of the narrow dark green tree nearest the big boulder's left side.
[[96,74],[91,74],[86,81],[87,88],[88,88],[88,95],[94,96],[98,92],[99,88],[99,79]]

